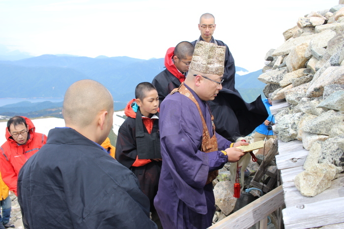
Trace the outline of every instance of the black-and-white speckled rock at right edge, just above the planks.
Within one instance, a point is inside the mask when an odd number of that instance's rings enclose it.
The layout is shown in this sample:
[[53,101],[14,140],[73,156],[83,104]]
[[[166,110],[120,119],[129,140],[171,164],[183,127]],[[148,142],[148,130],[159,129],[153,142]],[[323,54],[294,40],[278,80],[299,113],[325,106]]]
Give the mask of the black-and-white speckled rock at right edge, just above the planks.
[[319,163],[333,164],[344,169],[344,135],[327,139],[322,145]]

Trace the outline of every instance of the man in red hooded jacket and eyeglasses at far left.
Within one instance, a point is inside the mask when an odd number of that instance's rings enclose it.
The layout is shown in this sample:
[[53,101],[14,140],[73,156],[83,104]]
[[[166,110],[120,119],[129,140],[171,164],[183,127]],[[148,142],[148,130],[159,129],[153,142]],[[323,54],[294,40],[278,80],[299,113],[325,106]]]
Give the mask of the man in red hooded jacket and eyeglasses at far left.
[[20,169],[47,142],[47,136],[36,133],[32,121],[24,116],[11,117],[5,135],[7,141],[0,148],[0,172],[9,190],[17,195]]

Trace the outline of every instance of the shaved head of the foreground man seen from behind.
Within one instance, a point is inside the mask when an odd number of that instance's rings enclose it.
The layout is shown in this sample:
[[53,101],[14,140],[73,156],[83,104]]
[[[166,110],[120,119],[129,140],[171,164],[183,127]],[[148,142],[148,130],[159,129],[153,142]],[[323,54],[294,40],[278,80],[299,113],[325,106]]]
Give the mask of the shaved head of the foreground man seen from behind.
[[67,125],[84,128],[92,123],[101,111],[114,110],[109,90],[93,80],[81,80],[72,84],[63,100],[63,118]]

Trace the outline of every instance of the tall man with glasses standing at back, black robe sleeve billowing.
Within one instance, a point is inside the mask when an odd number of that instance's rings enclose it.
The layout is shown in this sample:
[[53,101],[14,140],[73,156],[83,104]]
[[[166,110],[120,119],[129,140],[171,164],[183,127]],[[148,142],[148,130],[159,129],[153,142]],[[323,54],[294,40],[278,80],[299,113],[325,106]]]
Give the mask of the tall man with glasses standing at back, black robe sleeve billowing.
[[265,106],[259,97],[252,103],[246,103],[240,93],[235,89],[235,64],[228,46],[215,40],[213,33],[216,29],[215,18],[210,13],[201,15],[198,28],[201,36],[191,42],[196,45],[200,41],[225,46],[223,89],[213,101],[209,101],[214,115],[216,132],[230,141],[237,137],[251,134],[268,116]]

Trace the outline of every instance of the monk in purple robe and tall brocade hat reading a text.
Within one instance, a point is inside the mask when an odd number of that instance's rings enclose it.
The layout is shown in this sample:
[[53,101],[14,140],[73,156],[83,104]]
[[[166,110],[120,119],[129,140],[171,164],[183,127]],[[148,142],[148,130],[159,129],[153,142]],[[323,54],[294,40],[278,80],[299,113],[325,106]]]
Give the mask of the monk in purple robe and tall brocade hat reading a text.
[[[203,229],[215,213],[212,181],[227,162],[243,155],[215,132],[207,101],[222,89],[226,48],[199,42],[185,82],[160,107],[163,158],[154,206],[164,229]],[[207,55],[204,55],[204,54]]]

